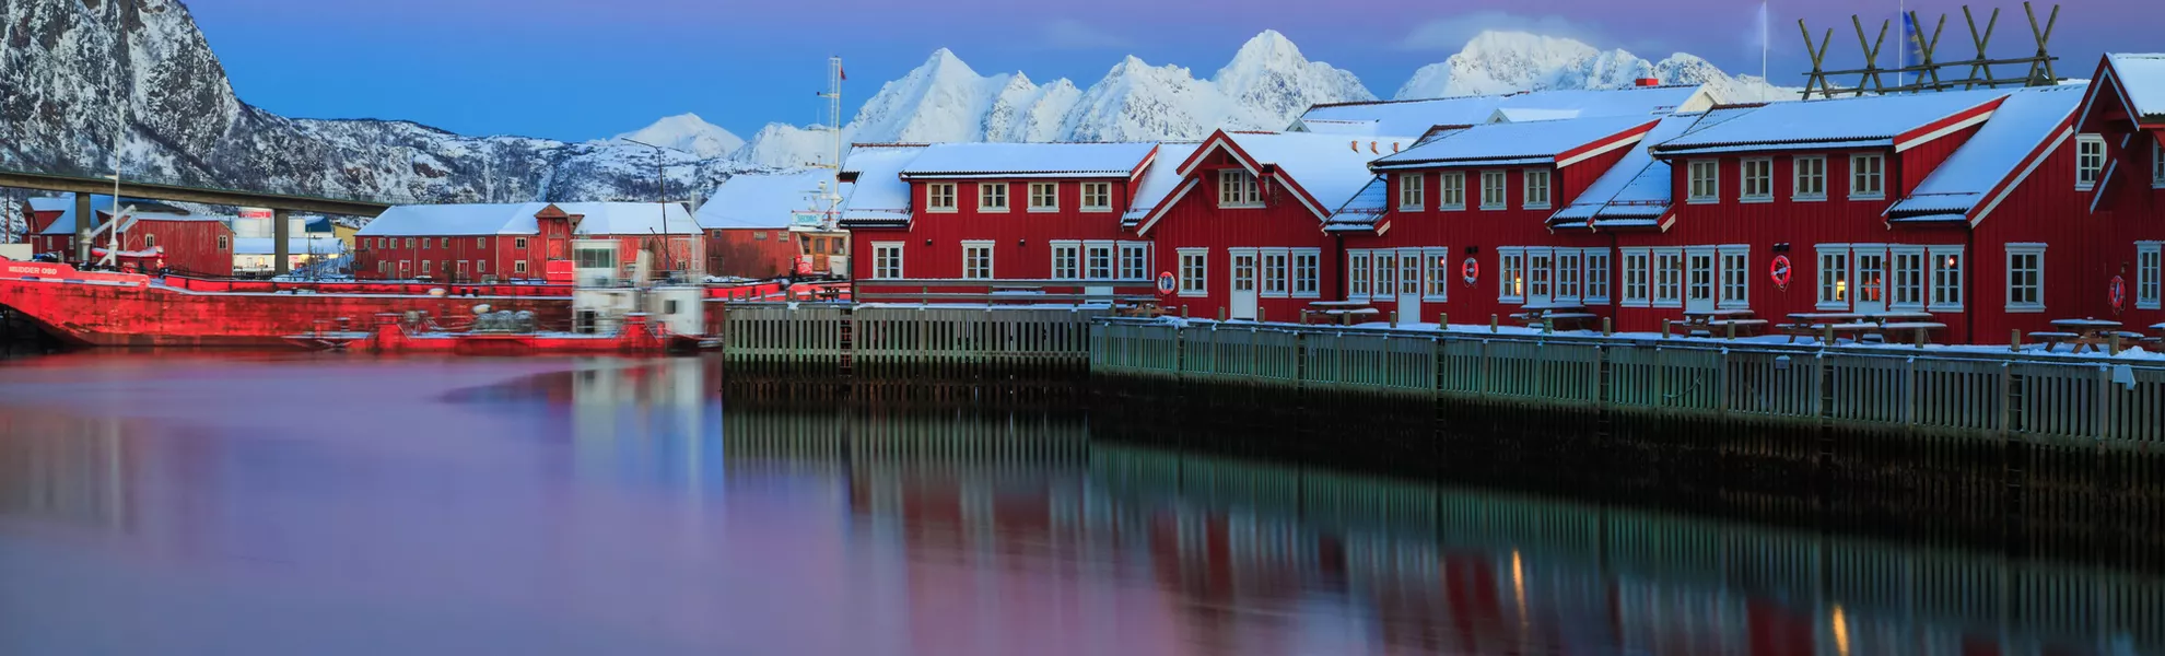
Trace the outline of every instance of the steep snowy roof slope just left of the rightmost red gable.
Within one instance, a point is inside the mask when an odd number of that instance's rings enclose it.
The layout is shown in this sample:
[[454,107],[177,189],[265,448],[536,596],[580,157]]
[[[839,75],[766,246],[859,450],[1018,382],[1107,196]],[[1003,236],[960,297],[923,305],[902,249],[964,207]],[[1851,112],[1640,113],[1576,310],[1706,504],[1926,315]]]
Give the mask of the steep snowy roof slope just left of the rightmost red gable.
[[1888,210],[1892,221],[1968,219],[2083,104],[2083,87],[2035,87],[2007,95],[1992,119]]

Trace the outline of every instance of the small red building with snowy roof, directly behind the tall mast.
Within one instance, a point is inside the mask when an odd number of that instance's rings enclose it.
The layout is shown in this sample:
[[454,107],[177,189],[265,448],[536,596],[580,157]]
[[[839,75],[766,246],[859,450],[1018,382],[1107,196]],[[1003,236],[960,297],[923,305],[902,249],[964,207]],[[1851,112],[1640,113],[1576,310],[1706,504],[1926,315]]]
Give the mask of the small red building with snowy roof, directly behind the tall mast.
[[795,273],[849,273],[849,232],[834,227],[829,171],[734,175],[699,206],[706,273],[769,279]]

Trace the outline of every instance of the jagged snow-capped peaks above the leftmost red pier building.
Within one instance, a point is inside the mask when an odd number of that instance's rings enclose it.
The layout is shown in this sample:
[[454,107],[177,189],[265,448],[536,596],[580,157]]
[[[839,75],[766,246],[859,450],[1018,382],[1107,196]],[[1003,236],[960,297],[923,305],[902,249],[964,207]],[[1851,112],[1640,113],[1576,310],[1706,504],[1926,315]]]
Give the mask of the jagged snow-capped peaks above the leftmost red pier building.
[[[1202,139],[1217,128],[1280,130],[1310,104],[1375,100],[1349,71],[1301,56],[1264,30],[1217,76],[1152,67],[1128,56],[1089,89],[1070,80],[1035,84],[1026,74],[981,76],[955,52],[935,50],[907,76],[879,87],[842,128],[851,143],[922,141],[1137,141]],[[736,160],[788,167],[831,149],[825,130],[773,123]]]

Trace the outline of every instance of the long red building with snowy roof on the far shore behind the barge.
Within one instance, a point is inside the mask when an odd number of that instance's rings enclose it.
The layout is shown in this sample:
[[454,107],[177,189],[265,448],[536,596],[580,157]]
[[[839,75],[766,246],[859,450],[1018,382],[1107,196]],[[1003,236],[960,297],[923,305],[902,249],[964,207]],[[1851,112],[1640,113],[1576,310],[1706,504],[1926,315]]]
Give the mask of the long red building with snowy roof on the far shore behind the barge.
[[359,279],[541,279],[546,262],[621,279],[697,275],[701,232],[680,204],[468,204],[390,208],[355,234]]

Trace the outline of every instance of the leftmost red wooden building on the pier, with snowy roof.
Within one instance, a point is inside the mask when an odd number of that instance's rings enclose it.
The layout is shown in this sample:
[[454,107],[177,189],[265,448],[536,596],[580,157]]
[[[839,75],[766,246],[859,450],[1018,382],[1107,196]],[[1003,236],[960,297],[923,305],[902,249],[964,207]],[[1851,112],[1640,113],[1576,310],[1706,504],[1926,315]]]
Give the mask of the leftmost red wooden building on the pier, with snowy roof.
[[1156,152],[1156,143],[860,145],[840,221],[857,290],[1139,292],[1150,284],[1150,242],[1128,236],[1121,214]]

